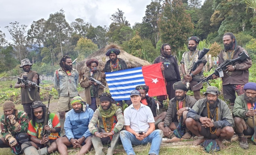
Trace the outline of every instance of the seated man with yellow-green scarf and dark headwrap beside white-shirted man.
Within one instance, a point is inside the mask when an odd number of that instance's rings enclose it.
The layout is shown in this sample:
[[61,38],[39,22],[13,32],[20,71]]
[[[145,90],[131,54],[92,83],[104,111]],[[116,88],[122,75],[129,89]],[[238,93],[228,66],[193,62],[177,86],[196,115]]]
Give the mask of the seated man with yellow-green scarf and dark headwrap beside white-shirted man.
[[[113,155],[119,139],[120,131],[124,128],[125,119],[122,108],[113,101],[110,93],[99,95],[100,106],[94,112],[89,123],[89,130],[93,134],[92,144],[95,149],[95,155],[104,155],[102,144],[109,144],[107,155]],[[95,127],[98,124],[99,127]]]

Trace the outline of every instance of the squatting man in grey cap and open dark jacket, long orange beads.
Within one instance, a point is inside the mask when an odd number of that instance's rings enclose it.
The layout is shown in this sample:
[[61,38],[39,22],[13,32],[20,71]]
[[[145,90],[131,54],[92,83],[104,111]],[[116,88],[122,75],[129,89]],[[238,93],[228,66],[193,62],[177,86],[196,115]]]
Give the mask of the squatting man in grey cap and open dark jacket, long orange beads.
[[193,145],[199,145],[208,138],[215,140],[223,149],[222,140],[234,135],[234,120],[227,103],[218,99],[219,94],[217,87],[209,86],[204,92],[206,98],[198,100],[188,112],[186,127],[198,137]]

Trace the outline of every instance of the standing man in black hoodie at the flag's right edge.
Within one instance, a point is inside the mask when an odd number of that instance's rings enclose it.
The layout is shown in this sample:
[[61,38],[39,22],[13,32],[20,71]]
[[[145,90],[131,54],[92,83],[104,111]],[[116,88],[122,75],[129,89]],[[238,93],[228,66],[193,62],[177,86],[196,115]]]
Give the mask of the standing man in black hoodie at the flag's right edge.
[[[163,71],[164,79],[166,80],[166,90],[169,100],[175,97],[175,90],[173,89],[173,84],[175,82],[181,81],[181,75],[179,71],[179,66],[172,55],[172,49],[169,44],[163,44],[160,49],[160,56],[158,56],[155,63],[162,63],[161,70]],[[157,96],[159,102],[163,103],[163,100],[166,100],[166,96]]]

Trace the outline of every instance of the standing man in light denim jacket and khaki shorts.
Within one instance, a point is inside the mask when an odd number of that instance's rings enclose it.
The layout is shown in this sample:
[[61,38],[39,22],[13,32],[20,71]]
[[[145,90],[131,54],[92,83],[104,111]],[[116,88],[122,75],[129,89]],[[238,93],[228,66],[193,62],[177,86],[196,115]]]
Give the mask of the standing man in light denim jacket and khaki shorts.
[[63,55],[60,66],[61,68],[54,73],[54,87],[60,97],[57,112],[60,115],[61,136],[64,136],[65,113],[72,109],[70,100],[78,95],[76,87],[78,86],[79,73],[72,68],[72,60],[68,55]]

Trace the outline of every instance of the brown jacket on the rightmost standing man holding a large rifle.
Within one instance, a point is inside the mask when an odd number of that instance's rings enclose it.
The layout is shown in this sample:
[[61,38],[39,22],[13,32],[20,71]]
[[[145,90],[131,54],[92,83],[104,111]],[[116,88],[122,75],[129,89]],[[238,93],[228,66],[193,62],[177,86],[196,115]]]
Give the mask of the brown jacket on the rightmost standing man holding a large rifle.
[[[236,47],[236,51],[234,52],[233,58],[232,59],[236,59],[238,57],[238,54],[242,53],[243,51],[245,51],[246,54],[247,51],[242,48],[241,46],[237,46]],[[226,53],[224,53],[225,50],[222,50],[220,52],[220,54],[218,55],[219,57],[219,65],[221,63],[223,63],[226,59],[224,59],[223,55],[226,55]],[[249,54],[248,54],[249,55]],[[233,71],[232,73],[224,73],[224,77],[222,77],[222,85],[227,85],[227,84],[246,84],[249,81],[249,68],[252,66],[252,59],[249,58],[244,60],[243,62],[241,61],[237,61],[234,64],[235,66],[235,71]]]

